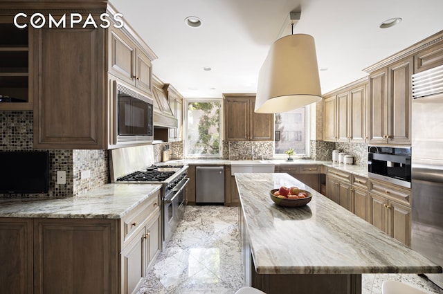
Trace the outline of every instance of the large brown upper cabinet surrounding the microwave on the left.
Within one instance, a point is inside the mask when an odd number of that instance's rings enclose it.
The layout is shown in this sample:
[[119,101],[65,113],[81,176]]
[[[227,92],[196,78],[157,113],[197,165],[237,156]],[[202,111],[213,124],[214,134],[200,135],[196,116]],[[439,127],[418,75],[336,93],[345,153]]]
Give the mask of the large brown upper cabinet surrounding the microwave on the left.
[[[110,5],[105,9],[92,10],[97,23],[100,12],[116,13]],[[69,11],[66,9],[66,13]],[[152,96],[154,53],[127,24],[123,28],[44,27],[33,30],[32,35],[33,147],[115,147],[114,142],[109,142],[109,138],[114,138],[109,133],[115,131],[109,125],[116,107],[114,82],[118,80],[134,91]]]

